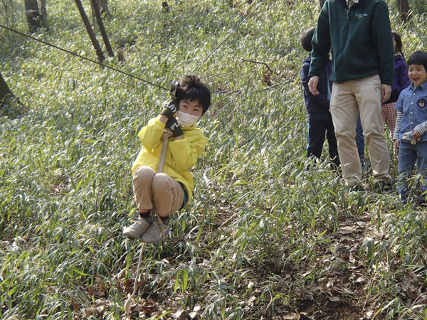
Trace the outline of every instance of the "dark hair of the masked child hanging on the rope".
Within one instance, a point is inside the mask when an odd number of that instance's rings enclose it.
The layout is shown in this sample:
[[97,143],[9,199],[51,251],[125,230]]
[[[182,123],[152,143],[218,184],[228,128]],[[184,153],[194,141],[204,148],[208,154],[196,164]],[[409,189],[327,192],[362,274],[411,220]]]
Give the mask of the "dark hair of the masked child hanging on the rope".
[[195,75],[184,75],[179,80],[179,90],[176,92],[176,102],[181,100],[199,100],[203,113],[208,111],[211,105],[211,91]]

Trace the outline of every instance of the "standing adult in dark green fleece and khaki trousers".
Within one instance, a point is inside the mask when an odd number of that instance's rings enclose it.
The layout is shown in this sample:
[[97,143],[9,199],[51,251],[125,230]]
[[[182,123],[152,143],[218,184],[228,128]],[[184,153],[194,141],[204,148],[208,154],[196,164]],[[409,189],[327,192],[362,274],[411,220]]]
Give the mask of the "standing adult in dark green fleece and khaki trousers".
[[332,47],[334,82],[330,109],[337,136],[342,177],[360,186],[362,166],[354,142],[360,112],[374,175],[374,188],[390,188],[389,151],[381,131],[381,102],[394,80],[394,46],[389,9],[384,0],[327,0],[312,40],[309,89],[317,82]]

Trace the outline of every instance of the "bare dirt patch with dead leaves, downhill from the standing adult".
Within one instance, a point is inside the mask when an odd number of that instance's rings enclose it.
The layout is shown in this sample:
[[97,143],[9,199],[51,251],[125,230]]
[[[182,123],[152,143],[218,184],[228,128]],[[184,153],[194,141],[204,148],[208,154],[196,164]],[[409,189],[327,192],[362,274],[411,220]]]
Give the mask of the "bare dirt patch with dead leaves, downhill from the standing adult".
[[[298,266],[265,265],[255,273],[260,283],[280,274],[286,286],[275,292],[288,294],[284,304],[265,312],[263,319],[385,319],[376,314],[368,291],[373,279],[368,272],[367,242],[379,230],[372,230],[371,215],[342,218],[336,233],[326,233],[327,246],[317,245],[316,260]],[[366,247],[366,248],[365,248]]]

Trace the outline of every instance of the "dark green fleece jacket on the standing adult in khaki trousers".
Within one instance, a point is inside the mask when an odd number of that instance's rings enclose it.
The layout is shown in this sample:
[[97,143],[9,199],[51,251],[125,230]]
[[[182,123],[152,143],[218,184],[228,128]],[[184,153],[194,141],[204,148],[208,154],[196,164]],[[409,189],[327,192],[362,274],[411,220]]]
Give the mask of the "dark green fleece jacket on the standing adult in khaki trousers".
[[309,75],[321,75],[332,46],[330,80],[345,82],[379,75],[393,85],[394,46],[389,9],[384,0],[359,0],[348,9],[345,0],[327,0],[312,38]]

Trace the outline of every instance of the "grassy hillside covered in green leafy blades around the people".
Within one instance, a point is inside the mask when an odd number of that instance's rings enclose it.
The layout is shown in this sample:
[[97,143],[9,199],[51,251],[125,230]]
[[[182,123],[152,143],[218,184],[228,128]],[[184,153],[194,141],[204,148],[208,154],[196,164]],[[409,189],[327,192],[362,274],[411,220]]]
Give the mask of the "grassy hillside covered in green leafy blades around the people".
[[[27,32],[21,2],[4,1],[1,23]],[[169,87],[250,2],[172,0],[165,13],[160,1],[110,0],[105,27],[126,61],[105,63]],[[166,242],[147,245],[139,319],[427,319],[426,211],[371,193],[369,159],[364,191],[327,161],[305,171],[298,35],[319,6],[291,2],[264,1],[196,70],[213,92],[199,123],[209,142],[194,201]],[[423,1],[408,23],[388,2],[406,57],[426,50]],[[73,1],[47,10],[33,36],[96,60]],[[130,167],[169,93],[4,29],[0,41],[0,72],[29,107],[0,118],[0,318],[125,319],[142,247],[122,235],[136,215]]]

